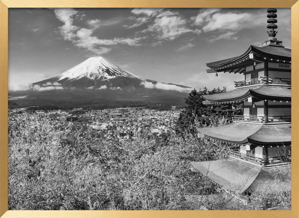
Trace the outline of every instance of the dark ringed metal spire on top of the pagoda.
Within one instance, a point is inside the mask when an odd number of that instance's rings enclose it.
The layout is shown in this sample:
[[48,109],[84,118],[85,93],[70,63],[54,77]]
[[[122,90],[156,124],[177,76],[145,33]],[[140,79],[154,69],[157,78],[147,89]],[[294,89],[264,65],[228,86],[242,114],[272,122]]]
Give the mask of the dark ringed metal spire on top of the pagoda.
[[268,8],[267,9],[267,17],[269,18],[267,20],[267,28],[269,29],[269,31],[267,31],[269,38],[263,42],[262,46],[275,46],[275,47],[284,47],[282,46],[282,41],[278,41],[275,37],[277,34],[277,31],[275,31],[275,29],[277,29],[277,9],[276,8]]

